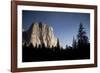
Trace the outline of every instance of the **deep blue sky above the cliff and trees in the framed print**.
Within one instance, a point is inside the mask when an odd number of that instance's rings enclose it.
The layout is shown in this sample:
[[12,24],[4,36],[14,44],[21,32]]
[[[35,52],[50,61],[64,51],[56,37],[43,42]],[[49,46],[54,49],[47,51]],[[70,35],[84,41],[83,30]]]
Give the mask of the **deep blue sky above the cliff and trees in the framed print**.
[[83,23],[87,36],[90,38],[90,14],[69,12],[28,11],[22,12],[22,28],[27,30],[32,22],[43,22],[53,27],[54,34],[60,44],[72,45],[73,36],[76,37],[80,22]]

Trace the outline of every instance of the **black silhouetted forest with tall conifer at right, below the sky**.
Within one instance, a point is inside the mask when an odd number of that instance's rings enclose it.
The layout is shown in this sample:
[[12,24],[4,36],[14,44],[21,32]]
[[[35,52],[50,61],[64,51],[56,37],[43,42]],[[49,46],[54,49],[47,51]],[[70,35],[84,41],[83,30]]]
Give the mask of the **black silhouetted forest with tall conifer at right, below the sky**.
[[[66,34],[67,35],[67,34]],[[56,47],[45,47],[44,43],[34,47],[22,46],[22,61],[56,61],[56,60],[79,60],[90,59],[90,43],[82,23],[79,25],[78,34],[73,37],[72,46],[66,44],[66,48],[60,47],[59,39]]]

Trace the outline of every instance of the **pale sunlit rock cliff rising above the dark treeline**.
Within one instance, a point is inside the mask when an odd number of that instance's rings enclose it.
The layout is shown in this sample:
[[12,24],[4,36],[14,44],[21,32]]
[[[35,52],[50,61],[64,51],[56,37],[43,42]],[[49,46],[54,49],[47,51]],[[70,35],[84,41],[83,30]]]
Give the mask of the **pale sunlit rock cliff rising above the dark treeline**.
[[45,47],[56,47],[57,38],[54,36],[53,28],[44,23],[32,23],[27,31],[22,33],[22,44],[39,47],[44,44]]

